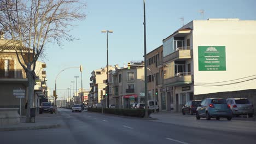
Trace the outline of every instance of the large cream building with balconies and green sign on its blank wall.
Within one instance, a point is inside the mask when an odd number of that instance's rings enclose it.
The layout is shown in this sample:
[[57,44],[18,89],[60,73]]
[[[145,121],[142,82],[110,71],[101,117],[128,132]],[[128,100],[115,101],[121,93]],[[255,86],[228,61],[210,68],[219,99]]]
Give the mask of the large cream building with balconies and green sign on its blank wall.
[[181,111],[188,100],[206,97],[245,97],[255,104],[255,26],[239,19],[194,20],[165,38],[160,89],[170,99],[167,110]]

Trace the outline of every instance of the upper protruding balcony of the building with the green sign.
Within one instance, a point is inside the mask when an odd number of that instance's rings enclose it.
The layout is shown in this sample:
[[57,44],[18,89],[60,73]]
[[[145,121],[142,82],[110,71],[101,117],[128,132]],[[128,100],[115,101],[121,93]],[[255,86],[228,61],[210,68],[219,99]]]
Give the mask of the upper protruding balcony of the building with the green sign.
[[176,51],[164,57],[164,62],[190,59],[193,56],[191,49],[192,46],[177,47]]

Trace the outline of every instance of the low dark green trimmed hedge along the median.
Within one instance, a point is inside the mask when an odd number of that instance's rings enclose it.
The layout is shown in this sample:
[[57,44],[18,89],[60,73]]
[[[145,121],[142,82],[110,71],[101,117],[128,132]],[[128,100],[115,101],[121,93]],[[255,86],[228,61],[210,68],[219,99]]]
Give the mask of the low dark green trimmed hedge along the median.
[[[101,113],[101,108],[89,108],[88,111]],[[103,108],[103,113],[131,116],[131,117],[144,117],[145,110],[144,109],[107,109],[107,108],[105,109]],[[152,111],[148,110],[148,116],[150,115],[150,113],[152,113]]]

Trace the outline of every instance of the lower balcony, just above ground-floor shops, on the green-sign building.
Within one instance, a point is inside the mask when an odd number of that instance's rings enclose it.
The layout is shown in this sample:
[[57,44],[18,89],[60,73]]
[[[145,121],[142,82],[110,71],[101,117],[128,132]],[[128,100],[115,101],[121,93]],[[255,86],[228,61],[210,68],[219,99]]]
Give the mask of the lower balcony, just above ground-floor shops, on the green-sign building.
[[165,86],[179,86],[179,85],[189,84],[191,82],[192,82],[191,72],[181,72],[181,73],[175,74],[174,77],[165,79],[163,84]]

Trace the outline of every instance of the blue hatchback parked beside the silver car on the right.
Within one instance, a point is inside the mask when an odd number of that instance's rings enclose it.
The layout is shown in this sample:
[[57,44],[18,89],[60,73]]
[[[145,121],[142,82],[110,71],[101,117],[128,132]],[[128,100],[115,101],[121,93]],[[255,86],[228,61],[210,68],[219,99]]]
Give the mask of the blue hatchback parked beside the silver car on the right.
[[226,104],[226,100],[222,98],[206,98],[202,101],[201,105],[196,109],[196,119],[206,117],[210,120],[212,117],[217,120],[220,117],[225,117],[230,121],[232,119],[232,111]]

